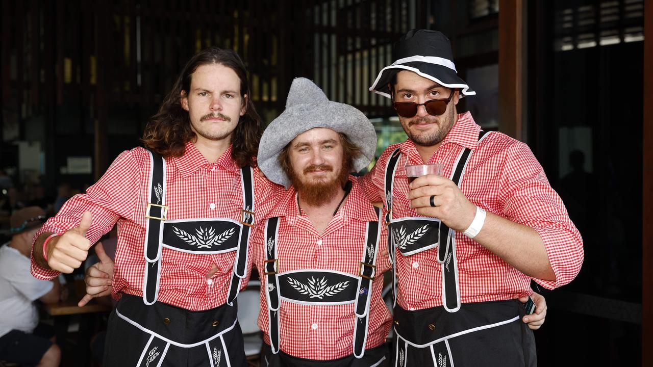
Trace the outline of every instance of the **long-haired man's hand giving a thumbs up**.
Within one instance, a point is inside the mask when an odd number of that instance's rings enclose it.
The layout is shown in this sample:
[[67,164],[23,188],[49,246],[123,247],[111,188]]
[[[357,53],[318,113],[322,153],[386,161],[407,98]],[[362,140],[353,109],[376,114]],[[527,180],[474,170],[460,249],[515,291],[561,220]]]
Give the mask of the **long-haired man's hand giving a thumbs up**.
[[91,242],[86,239],[86,232],[91,228],[92,221],[91,212],[85,212],[77,227],[47,243],[48,266],[52,270],[70,274],[82,265],[88,255],[88,249],[91,248]]

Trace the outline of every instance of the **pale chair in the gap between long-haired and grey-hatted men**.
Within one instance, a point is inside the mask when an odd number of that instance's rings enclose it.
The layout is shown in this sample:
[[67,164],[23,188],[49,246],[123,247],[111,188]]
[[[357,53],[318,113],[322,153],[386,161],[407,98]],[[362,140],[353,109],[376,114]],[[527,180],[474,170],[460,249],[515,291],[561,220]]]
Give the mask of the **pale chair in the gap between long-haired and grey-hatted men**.
[[243,331],[245,355],[250,366],[258,366],[263,347],[263,333],[256,321],[261,306],[261,282],[250,280],[247,288],[238,294],[238,323]]

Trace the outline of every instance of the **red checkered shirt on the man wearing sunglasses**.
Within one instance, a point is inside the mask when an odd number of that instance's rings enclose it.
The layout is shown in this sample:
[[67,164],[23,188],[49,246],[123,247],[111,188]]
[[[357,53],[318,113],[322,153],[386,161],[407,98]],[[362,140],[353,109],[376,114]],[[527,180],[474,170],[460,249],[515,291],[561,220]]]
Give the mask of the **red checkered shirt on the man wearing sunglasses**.
[[[541,236],[556,274],[556,281],[534,279],[548,289],[569,283],[581,270],[581,234],[571,223],[558,194],[528,146],[505,134],[488,133],[478,143],[481,127],[471,114],[458,121],[445,136],[428,163],[444,163],[443,176],[451,177],[456,158],[464,148],[473,150],[465,168],[460,190],[473,204],[500,217],[531,227]],[[409,191],[407,164],[422,164],[412,140],[389,146],[361,183],[373,201],[385,202],[384,178],[387,161],[396,148],[402,155],[397,163],[392,217],[419,216],[406,198]],[[398,304],[406,310],[440,306],[441,270],[437,247],[404,256],[397,250]],[[507,300],[532,293],[530,276],[506,263],[474,240],[456,232],[456,255],[461,302]]]

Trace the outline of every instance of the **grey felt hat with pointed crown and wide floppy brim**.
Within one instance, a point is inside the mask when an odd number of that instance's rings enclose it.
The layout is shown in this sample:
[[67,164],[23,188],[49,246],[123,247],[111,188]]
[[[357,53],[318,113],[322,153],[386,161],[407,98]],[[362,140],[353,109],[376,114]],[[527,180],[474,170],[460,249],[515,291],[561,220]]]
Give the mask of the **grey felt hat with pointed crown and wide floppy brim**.
[[347,135],[362,154],[354,159],[353,172],[367,167],[374,158],[376,133],[368,118],[349,104],[329,101],[327,95],[306,78],[296,78],[290,87],[285,110],[263,132],[257,162],[272,182],[291,185],[279,165],[281,150],[293,139],[315,127]]

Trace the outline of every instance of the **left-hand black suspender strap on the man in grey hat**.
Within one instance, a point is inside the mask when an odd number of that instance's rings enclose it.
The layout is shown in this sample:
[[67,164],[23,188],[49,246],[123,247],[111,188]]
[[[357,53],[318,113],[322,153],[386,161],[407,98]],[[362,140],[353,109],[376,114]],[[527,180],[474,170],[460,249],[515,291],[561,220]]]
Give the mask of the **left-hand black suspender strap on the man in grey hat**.
[[265,277],[266,298],[268,301],[268,312],[270,313],[268,335],[270,336],[270,348],[272,353],[279,352],[279,283],[277,273],[279,271],[279,260],[277,259],[277,234],[279,229],[279,217],[270,218],[265,223],[265,253],[263,276]]

